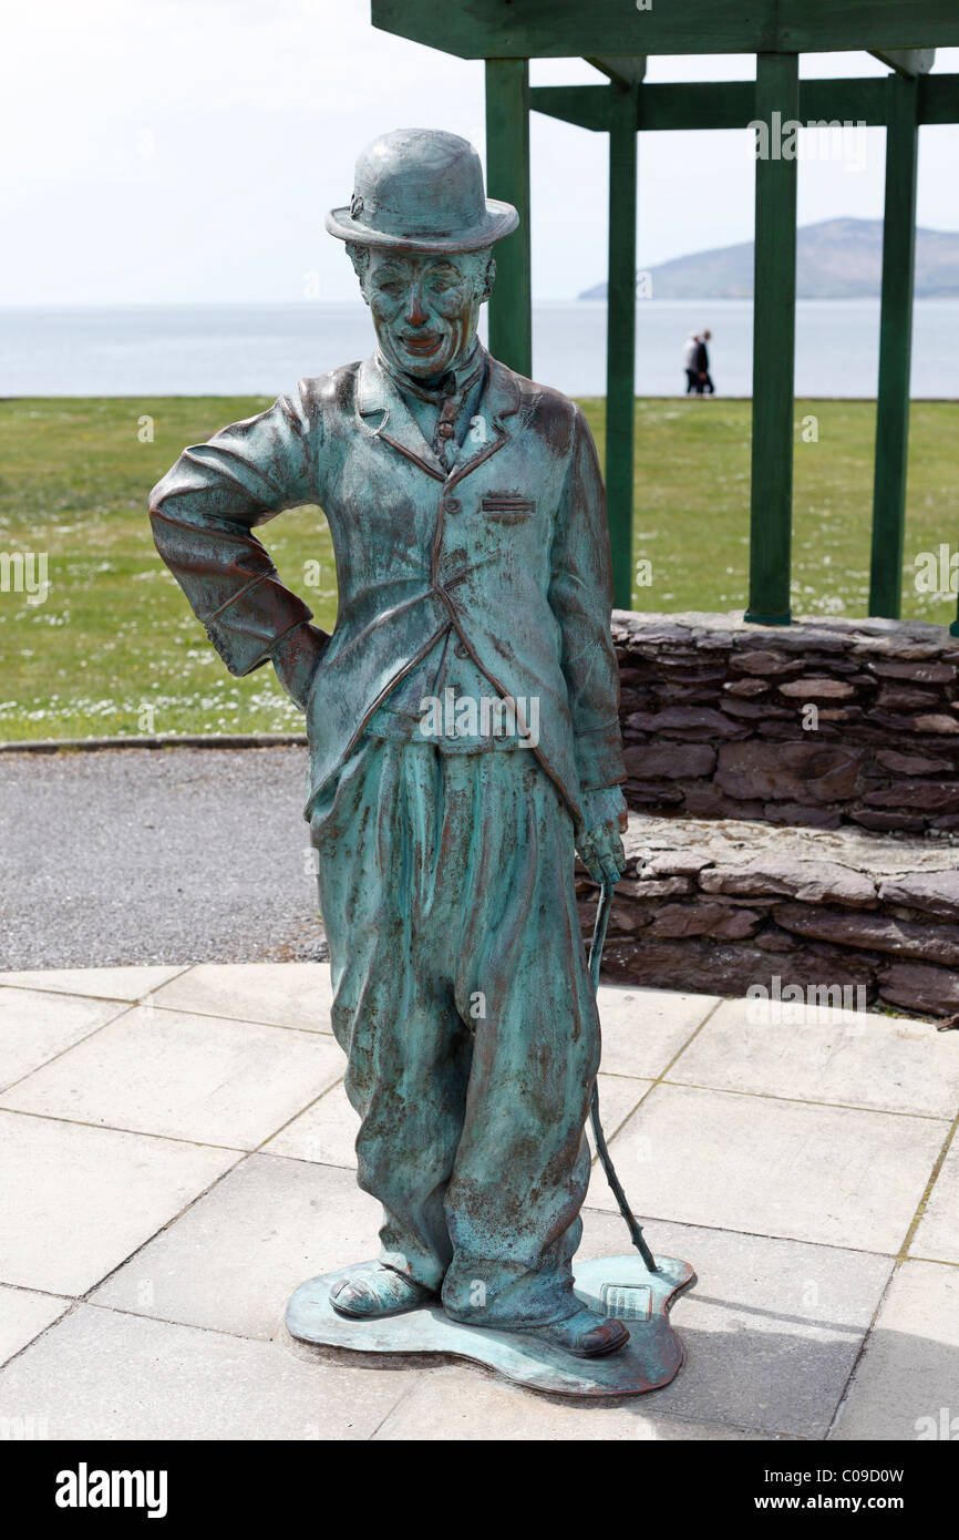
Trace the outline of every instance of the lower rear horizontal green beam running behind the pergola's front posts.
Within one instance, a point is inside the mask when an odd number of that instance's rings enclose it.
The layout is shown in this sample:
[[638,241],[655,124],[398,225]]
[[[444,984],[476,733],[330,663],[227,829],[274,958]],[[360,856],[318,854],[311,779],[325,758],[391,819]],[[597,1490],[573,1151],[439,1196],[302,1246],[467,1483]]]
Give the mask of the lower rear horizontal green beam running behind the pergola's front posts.
[[[885,128],[885,97],[890,75],[853,75],[842,80],[800,80],[802,123],[865,123]],[[533,86],[530,106],[579,128],[610,128],[610,86]],[[639,91],[637,128],[643,132],[747,128],[756,116],[751,80],[696,80],[674,85],[643,85]],[[959,123],[959,75],[919,79],[919,123]]]

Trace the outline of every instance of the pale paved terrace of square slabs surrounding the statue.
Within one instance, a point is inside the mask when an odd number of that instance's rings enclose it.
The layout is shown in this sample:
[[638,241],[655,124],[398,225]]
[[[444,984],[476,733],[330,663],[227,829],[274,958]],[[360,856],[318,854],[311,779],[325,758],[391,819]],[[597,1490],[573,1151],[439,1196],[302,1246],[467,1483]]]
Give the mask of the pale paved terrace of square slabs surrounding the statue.
[[[957,1035],[605,987],[613,1153],[699,1286],[679,1378],[582,1409],[283,1346],[296,1284],[376,1249],[328,1004],[322,964],[0,978],[0,1429],[914,1440],[959,1414]],[[628,1250],[600,1173],[583,1249]]]

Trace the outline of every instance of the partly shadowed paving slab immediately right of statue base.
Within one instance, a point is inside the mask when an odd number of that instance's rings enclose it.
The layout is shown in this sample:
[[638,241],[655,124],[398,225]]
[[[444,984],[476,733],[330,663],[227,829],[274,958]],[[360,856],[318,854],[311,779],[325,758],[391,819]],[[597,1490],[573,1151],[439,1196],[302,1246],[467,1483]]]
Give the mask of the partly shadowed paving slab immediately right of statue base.
[[[691,1263],[699,1280],[671,1317],[687,1361],[640,1411],[825,1438],[893,1260],[640,1220],[653,1252]],[[619,1215],[583,1210],[582,1257],[628,1249]]]

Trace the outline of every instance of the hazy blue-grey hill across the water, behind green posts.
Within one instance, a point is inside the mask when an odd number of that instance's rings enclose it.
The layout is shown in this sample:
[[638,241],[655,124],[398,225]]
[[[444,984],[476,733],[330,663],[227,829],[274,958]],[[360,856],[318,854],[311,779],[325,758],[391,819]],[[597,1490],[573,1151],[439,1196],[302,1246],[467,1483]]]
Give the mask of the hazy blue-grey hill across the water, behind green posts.
[[[648,271],[653,299],[751,299],[753,242],[674,257]],[[800,225],[797,299],[873,299],[880,283],[880,219],[825,219]],[[577,296],[605,297],[605,283]],[[959,234],[916,229],[916,299],[959,299]]]

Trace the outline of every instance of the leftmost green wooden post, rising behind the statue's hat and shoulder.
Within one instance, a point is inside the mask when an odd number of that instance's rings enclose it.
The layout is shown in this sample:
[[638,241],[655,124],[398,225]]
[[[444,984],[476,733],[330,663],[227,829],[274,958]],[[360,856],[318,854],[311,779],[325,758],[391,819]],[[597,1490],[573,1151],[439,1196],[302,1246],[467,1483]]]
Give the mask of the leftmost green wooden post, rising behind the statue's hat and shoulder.
[[486,60],[486,191],[519,209],[519,229],[496,248],[490,351],[533,374],[530,276],[530,60]]

